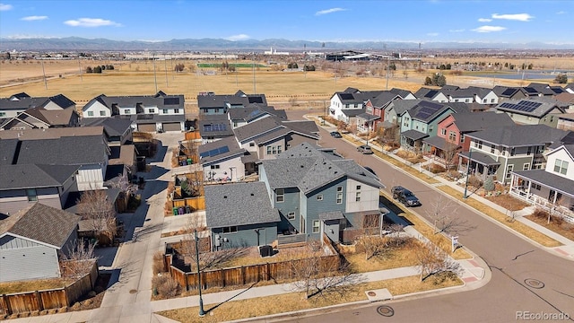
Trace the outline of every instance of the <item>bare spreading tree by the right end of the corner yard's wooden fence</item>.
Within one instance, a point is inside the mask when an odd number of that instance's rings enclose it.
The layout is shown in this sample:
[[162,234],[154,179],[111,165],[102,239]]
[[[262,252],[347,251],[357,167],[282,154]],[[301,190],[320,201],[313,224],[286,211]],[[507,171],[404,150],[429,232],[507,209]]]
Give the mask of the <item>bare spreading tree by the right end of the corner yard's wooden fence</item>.
[[349,267],[339,258],[322,259],[324,252],[320,243],[312,242],[305,246],[290,262],[291,276],[297,292],[305,292],[307,299],[314,296],[328,297],[343,295],[360,278],[351,275]]

